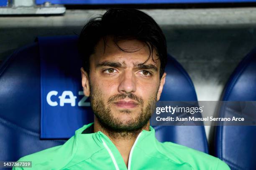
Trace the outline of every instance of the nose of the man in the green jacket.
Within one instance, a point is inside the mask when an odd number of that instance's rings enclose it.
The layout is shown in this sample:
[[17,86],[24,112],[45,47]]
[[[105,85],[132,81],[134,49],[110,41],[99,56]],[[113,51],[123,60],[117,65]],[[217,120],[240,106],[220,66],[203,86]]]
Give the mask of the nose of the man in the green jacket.
[[118,92],[120,93],[133,93],[136,91],[136,78],[132,72],[123,72],[120,78],[120,84],[118,86]]

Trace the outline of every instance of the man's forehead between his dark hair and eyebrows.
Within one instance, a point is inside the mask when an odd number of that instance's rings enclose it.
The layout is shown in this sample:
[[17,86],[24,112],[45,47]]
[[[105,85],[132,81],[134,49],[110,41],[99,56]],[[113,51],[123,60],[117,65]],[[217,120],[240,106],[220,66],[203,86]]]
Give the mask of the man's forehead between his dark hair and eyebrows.
[[115,61],[129,65],[143,63],[149,56],[150,59],[146,64],[160,68],[160,60],[157,60],[156,51],[153,50],[153,53],[150,54],[150,49],[146,43],[139,40],[119,40],[115,43],[112,37],[106,37],[105,40],[102,38],[97,43],[95,53],[90,57],[90,62],[96,64],[102,61]]

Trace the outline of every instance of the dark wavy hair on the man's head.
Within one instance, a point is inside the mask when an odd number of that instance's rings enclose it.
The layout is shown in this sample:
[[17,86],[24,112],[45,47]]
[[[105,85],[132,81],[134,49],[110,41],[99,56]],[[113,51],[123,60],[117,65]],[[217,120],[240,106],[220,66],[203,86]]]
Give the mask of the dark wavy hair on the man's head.
[[[103,38],[105,43],[106,36],[113,37],[116,45],[119,40],[136,39],[144,42],[150,50],[150,55],[145,62],[150,57],[154,60],[153,51],[155,50],[158,56],[156,60],[160,60],[161,65],[160,78],[163,76],[167,62],[166,39],[159,25],[146,13],[136,9],[110,9],[104,15],[93,18],[84,25],[79,35],[78,47],[83,68],[88,74],[89,58],[95,52],[100,39]],[[125,51],[120,47],[119,49]]]

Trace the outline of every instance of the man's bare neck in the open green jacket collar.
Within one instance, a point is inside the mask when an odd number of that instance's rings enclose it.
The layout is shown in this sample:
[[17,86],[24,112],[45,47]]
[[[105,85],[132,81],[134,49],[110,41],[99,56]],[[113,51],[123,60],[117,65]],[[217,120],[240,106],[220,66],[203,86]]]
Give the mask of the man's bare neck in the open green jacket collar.
[[97,118],[94,119],[94,132],[101,131],[105,135],[110,138],[110,140],[114,143],[118,151],[123,157],[126,167],[128,166],[129,154],[131,152],[131,148],[138,137],[138,134],[141,133],[142,130],[149,130],[149,121],[148,123],[141,129],[135,130],[132,132],[113,132],[108,130],[98,122]]

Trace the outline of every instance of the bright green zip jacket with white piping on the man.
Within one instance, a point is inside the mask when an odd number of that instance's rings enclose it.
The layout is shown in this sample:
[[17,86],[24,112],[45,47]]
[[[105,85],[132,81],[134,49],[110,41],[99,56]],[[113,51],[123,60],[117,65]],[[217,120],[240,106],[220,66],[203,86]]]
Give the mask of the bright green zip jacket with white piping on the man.
[[76,130],[64,145],[18,161],[32,161],[32,168],[24,168],[28,170],[230,170],[213,156],[171,142],[160,143],[152,127],[138,135],[127,168],[118,149],[104,133],[82,134],[92,124]]

